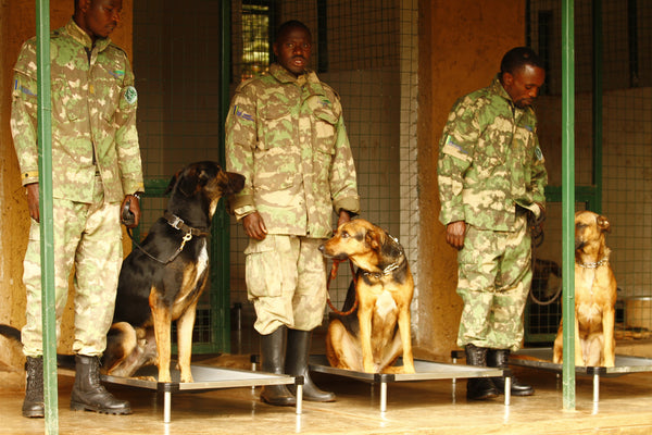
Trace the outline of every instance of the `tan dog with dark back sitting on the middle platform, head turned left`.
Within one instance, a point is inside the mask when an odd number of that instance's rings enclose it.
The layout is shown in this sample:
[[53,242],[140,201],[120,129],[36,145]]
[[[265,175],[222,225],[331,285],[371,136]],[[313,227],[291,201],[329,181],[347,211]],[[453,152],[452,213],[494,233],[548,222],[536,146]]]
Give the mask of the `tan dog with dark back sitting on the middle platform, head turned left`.
[[[412,272],[403,247],[365,220],[340,225],[319,250],[327,258],[350,259],[358,272],[344,310],[358,297],[358,312],[334,319],[326,335],[330,365],[367,373],[414,373],[410,331]],[[403,356],[403,365],[393,366]]]

